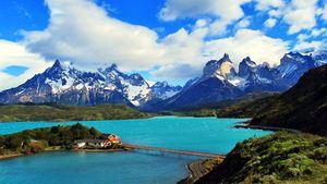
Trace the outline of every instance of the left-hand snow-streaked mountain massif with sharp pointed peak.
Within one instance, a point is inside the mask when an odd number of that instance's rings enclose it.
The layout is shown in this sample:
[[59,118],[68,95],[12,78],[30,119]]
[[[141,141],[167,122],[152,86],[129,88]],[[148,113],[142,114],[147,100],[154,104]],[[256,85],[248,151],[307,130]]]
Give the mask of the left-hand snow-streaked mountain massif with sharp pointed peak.
[[21,86],[0,93],[0,103],[124,103],[138,107],[150,100],[152,94],[166,99],[179,91],[178,87],[168,86],[150,87],[140,74],[124,74],[116,64],[97,72],[82,72],[70,63],[56,61]]

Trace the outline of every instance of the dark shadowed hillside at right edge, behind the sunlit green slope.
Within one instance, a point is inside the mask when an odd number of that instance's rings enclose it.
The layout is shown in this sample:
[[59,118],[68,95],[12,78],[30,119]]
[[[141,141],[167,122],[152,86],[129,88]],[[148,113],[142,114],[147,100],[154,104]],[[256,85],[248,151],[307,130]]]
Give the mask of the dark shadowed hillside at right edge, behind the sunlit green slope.
[[252,116],[255,125],[327,135],[327,65],[308,71],[282,95],[241,102],[218,110],[217,115]]

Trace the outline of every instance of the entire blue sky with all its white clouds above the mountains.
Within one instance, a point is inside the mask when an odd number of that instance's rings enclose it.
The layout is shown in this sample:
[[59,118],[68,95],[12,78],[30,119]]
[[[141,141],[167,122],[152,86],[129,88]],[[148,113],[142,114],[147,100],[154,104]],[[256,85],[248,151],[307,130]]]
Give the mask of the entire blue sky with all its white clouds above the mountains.
[[276,65],[327,38],[326,0],[11,0],[0,9],[0,78],[16,83],[60,59],[183,84],[225,52],[235,68],[246,56]]

